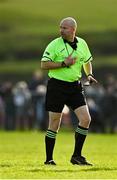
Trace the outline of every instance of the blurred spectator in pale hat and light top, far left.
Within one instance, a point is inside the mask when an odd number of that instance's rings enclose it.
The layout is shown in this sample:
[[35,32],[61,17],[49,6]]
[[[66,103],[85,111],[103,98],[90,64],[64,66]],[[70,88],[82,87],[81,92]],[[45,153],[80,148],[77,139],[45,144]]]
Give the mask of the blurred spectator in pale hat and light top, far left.
[[30,115],[31,93],[25,81],[18,82],[14,89],[14,104],[16,108],[16,123],[18,129],[24,130],[26,127],[30,128],[32,124]]

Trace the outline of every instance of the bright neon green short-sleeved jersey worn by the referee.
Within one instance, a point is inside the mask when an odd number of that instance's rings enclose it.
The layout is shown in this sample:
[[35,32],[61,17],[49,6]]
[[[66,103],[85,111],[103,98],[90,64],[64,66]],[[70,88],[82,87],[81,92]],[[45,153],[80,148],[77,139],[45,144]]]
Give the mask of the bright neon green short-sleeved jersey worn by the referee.
[[68,43],[64,43],[62,37],[56,38],[46,47],[41,61],[62,62],[72,53],[72,57],[76,57],[76,63],[69,67],[61,67],[58,69],[50,69],[48,76],[50,78],[62,81],[77,81],[82,76],[82,66],[92,60],[90,50],[87,43],[79,37],[76,37],[77,49],[73,50]]

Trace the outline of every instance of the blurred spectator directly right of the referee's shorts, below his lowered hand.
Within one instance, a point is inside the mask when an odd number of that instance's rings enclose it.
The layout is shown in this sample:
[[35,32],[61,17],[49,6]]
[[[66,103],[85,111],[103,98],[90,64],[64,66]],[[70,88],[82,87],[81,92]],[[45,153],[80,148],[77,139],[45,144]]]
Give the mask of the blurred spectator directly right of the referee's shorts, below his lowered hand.
[[100,84],[93,84],[85,87],[87,103],[92,117],[90,130],[93,132],[106,131],[106,119],[102,108],[102,101],[105,98],[105,89]]

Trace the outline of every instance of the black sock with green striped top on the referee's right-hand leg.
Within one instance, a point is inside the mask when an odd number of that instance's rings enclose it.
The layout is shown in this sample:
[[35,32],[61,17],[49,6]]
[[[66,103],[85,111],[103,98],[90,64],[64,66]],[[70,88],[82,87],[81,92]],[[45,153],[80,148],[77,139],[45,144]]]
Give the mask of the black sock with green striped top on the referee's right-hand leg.
[[82,148],[85,141],[85,138],[88,134],[88,129],[78,126],[75,132],[75,148],[73,157],[81,156]]

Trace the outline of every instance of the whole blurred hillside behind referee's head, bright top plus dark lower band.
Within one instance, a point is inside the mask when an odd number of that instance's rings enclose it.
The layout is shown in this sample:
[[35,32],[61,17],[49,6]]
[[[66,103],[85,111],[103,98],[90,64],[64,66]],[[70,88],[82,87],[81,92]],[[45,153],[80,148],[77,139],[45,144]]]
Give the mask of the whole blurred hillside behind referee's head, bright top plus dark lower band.
[[0,53],[42,52],[67,16],[77,20],[77,34],[96,49],[116,47],[116,7],[117,0],[0,0]]

